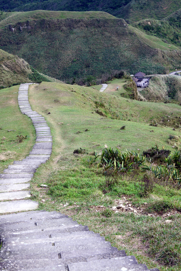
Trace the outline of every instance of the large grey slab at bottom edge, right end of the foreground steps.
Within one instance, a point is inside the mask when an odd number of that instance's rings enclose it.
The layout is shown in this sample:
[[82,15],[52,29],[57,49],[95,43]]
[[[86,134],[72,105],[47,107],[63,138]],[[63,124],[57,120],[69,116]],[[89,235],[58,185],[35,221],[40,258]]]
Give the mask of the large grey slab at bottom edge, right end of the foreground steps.
[[145,264],[138,264],[134,256],[116,257],[90,262],[69,263],[69,271],[146,271]]

